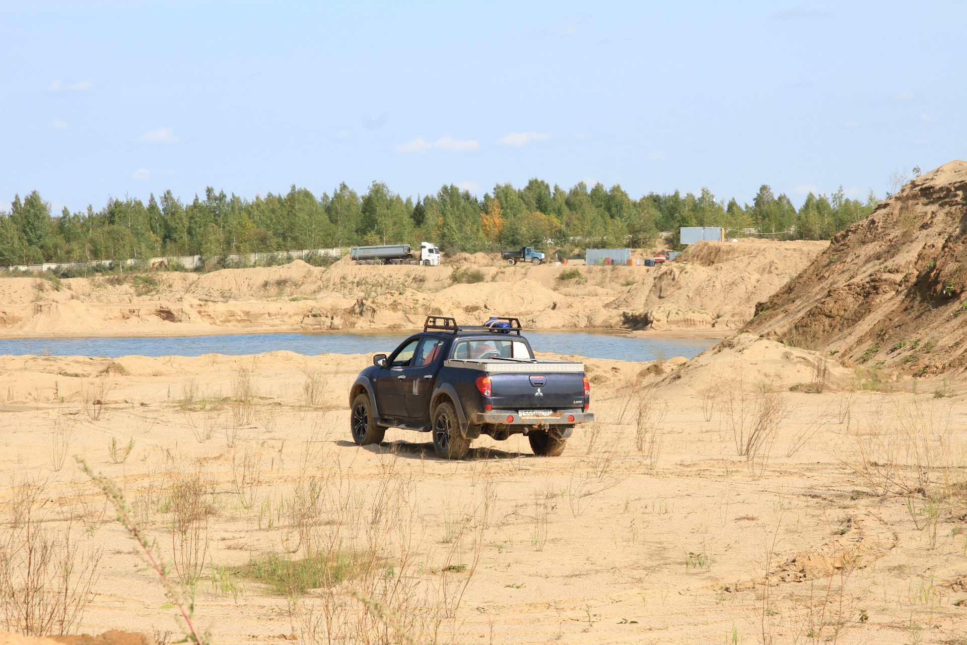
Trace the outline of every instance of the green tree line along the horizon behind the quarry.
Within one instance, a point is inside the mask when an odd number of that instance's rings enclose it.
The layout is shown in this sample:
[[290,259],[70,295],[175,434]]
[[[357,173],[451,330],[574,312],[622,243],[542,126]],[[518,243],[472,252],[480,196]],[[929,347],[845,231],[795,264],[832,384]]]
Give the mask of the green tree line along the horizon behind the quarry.
[[726,202],[711,191],[650,192],[632,199],[621,186],[583,182],[565,191],[539,179],[516,189],[498,184],[479,199],[456,186],[416,199],[373,182],[360,194],[340,184],[315,196],[294,185],[287,193],[248,200],[213,188],[183,202],[171,191],[144,203],[109,197],[100,210],[64,208],[52,214],[38,191],[0,211],[0,265],[202,255],[219,262],[229,253],[324,249],[357,245],[419,245],[445,252],[534,246],[571,255],[585,248],[650,247],[659,231],[724,226],[729,237],[829,239],[876,207],[865,201],[809,193],[797,209],[788,196],[762,185],[751,204]]

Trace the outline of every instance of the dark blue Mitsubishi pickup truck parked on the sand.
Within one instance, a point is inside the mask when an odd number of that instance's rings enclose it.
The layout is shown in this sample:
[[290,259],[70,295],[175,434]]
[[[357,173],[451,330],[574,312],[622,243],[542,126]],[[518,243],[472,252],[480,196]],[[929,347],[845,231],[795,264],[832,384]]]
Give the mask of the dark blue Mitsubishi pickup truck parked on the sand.
[[516,318],[498,327],[427,316],[424,331],[387,356],[376,354],[349,389],[359,446],[388,427],[430,432],[437,454],[460,459],[481,434],[523,433],[534,454],[557,456],[574,425],[594,421],[584,364],[534,358]]

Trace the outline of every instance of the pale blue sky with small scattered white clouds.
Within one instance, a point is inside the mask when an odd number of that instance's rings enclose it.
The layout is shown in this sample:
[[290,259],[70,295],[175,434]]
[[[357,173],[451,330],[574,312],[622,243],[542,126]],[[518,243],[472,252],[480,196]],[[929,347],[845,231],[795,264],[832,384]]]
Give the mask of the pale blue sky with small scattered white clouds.
[[0,0],[0,210],[533,177],[797,206],[967,158],[967,3]]

